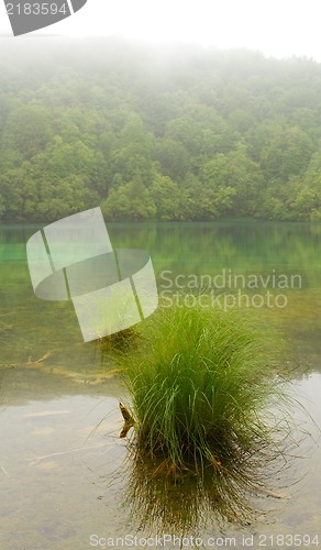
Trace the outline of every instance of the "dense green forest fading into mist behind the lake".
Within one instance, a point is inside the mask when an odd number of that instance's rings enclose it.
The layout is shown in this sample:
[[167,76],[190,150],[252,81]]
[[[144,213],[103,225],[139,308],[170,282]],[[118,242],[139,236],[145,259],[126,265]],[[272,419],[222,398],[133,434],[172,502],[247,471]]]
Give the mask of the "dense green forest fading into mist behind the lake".
[[20,38],[0,75],[2,222],[321,220],[321,64]]

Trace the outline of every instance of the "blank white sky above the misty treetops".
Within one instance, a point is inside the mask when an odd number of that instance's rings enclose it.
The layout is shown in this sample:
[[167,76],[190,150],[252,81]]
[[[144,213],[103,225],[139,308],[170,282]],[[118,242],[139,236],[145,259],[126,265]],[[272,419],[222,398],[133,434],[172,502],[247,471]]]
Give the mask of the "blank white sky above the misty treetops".
[[[12,33],[4,8],[0,16],[1,32]],[[321,0],[87,0],[40,33],[196,42],[321,62]]]

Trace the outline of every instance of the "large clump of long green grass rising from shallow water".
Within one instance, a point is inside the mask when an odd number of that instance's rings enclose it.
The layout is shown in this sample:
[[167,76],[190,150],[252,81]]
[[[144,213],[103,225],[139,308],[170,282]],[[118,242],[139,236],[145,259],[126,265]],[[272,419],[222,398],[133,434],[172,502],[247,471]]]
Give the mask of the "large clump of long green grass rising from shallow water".
[[174,472],[209,465],[236,479],[272,440],[263,411],[277,382],[264,334],[239,310],[184,301],[141,330],[126,369],[140,454],[163,457]]

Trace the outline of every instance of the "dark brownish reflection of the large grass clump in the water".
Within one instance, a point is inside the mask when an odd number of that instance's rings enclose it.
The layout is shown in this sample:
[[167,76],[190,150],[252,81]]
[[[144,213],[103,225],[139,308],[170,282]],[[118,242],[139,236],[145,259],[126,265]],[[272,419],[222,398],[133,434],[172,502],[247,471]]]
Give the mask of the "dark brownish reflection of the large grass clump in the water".
[[247,525],[258,515],[248,504],[246,483],[242,487],[212,471],[202,479],[175,474],[144,458],[135,458],[129,468],[125,503],[132,521],[144,531],[181,537],[210,526],[223,529],[226,521]]

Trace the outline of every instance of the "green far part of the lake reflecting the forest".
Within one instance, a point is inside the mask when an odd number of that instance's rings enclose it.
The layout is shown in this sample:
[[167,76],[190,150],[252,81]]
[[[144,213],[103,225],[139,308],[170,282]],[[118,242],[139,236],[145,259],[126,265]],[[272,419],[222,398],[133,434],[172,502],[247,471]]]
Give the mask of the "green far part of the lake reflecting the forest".
[[[36,229],[0,228],[1,363],[36,361],[51,353],[48,361],[62,367],[93,367],[92,345],[82,343],[73,304],[41,300],[33,294],[25,242]],[[321,226],[164,223],[111,224],[108,229],[114,248],[150,252],[159,296],[168,300],[176,284],[197,293],[202,284],[217,282],[219,288],[210,290],[221,305],[228,295],[229,307],[234,295],[236,305],[248,306],[292,339],[298,360],[311,360],[311,369],[319,370]],[[258,282],[253,287],[255,277]]]

